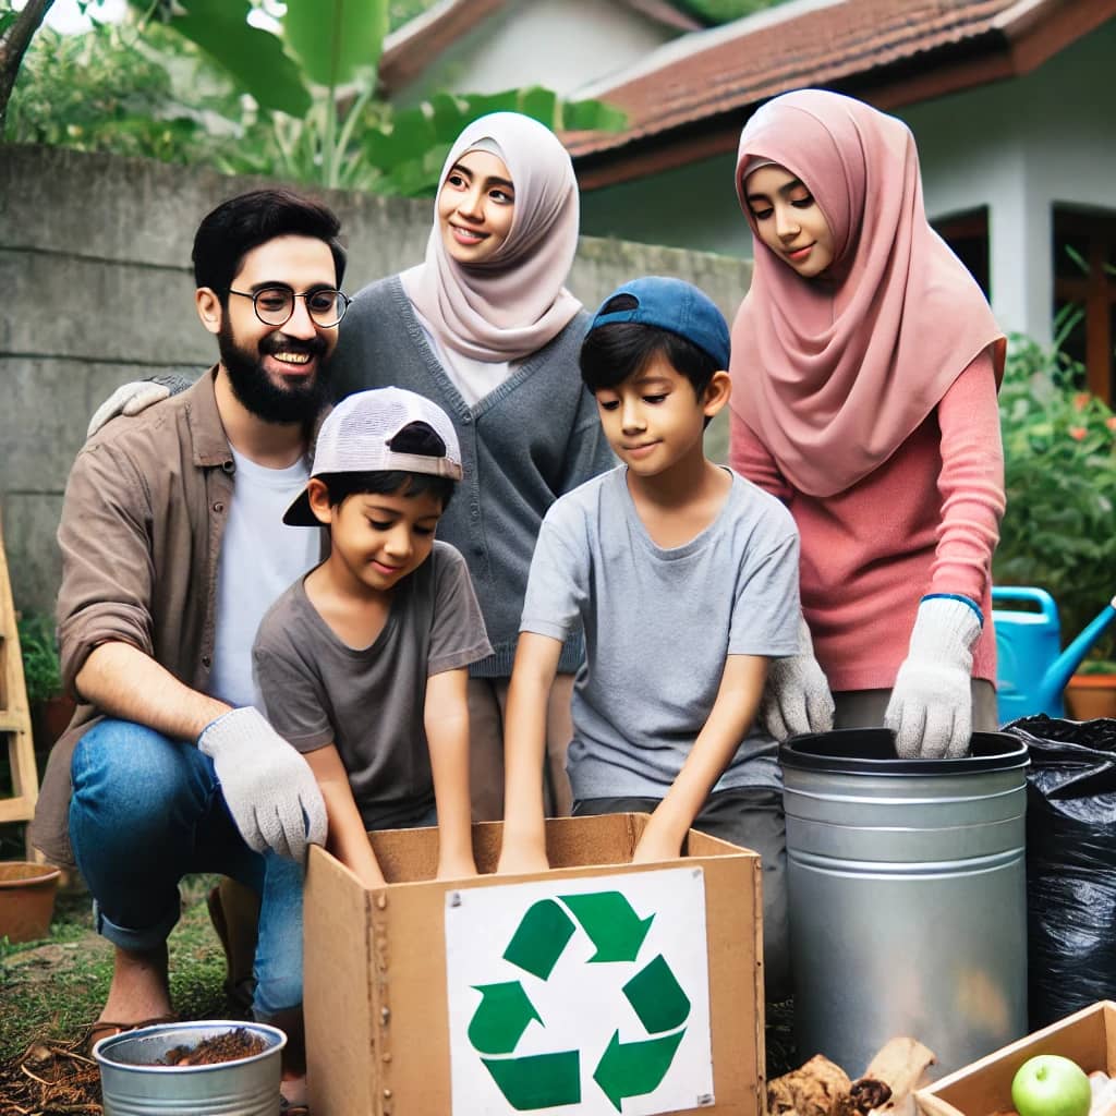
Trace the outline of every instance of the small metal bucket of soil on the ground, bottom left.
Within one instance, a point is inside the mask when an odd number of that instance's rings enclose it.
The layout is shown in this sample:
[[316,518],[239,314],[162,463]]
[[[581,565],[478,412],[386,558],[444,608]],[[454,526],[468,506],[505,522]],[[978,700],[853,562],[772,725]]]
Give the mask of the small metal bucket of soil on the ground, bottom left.
[[[158,1066],[179,1046],[244,1028],[267,1048],[251,1058],[213,1066]],[[100,1066],[105,1116],[276,1116],[287,1036],[277,1027],[225,1019],[160,1023],[102,1039],[93,1049]]]

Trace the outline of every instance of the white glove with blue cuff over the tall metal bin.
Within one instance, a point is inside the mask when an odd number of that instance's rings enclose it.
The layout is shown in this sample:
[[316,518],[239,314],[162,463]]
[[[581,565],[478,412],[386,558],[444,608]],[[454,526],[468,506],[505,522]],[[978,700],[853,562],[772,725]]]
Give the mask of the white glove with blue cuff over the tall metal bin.
[[968,597],[922,598],[884,714],[903,759],[956,759],[969,750],[972,648],[982,624]]

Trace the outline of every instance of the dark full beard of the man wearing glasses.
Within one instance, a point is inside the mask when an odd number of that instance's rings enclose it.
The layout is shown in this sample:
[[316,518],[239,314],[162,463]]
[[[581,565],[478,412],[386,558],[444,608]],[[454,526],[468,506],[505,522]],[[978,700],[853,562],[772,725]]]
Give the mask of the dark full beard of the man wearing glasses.
[[[314,421],[327,398],[329,363],[324,359],[324,338],[299,340],[281,333],[269,334],[260,341],[256,353],[249,353],[237,344],[225,316],[217,335],[217,344],[221,364],[229,373],[233,395],[257,419],[272,423]],[[315,374],[298,379],[291,377],[285,384],[277,384],[262,364],[262,357],[277,349],[308,353],[318,357]]]

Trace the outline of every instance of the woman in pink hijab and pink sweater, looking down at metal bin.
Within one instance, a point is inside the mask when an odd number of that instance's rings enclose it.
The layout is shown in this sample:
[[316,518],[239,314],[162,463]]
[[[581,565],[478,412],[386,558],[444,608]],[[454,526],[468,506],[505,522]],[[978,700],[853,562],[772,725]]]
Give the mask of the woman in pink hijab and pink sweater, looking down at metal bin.
[[926,222],[914,138],[817,89],[740,137],[751,289],[732,333],[732,466],[801,535],[801,653],[772,664],[777,737],[886,724],[903,757],[994,729],[991,560],[1004,338]]

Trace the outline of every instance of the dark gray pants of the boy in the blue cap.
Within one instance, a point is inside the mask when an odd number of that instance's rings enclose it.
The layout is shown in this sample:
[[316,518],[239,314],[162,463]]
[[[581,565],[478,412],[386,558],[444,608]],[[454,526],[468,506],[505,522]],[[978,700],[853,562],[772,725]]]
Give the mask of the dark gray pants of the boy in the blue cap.
[[[585,798],[574,817],[587,814],[651,814],[657,798]],[[709,796],[694,829],[760,854],[763,891],[763,981],[768,1003],[790,995],[787,934],[787,827],[782,792],[720,790]]]

